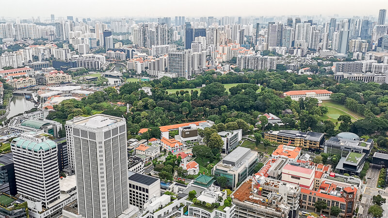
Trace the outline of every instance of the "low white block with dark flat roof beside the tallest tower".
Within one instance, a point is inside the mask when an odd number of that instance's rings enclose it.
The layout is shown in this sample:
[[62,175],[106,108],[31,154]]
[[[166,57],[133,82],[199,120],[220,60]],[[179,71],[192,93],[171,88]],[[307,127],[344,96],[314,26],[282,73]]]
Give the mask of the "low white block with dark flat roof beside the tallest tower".
[[128,171],[129,202],[131,205],[144,208],[145,203],[152,197],[161,196],[161,180],[152,176]]

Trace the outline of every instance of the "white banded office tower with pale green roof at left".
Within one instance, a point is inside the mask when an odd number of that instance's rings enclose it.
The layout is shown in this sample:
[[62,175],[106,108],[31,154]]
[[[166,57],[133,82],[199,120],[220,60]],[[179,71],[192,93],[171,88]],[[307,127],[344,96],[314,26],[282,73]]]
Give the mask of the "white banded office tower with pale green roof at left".
[[[57,144],[35,132],[12,140],[17,192],[42,211],[60,197]],[[30,204],[30,203],[29,203]],[[29,205],[30,206],[30,205]]]

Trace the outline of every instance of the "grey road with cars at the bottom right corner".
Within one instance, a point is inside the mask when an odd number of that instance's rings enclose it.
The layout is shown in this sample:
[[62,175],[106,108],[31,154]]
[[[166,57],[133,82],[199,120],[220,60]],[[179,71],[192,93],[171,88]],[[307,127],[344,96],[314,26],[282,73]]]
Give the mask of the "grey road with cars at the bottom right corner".
[[368,209],[373,205],[372,197],[378,194],[383,196],[387,194],[383,189],[376,188],[380,170],[381,165],[370,164],[367,175],[365,176],[367,184],[361,185],[362,199],[360,205],[363,207],[363,213],[359,218],[371,218],[372,216],[368,214]]

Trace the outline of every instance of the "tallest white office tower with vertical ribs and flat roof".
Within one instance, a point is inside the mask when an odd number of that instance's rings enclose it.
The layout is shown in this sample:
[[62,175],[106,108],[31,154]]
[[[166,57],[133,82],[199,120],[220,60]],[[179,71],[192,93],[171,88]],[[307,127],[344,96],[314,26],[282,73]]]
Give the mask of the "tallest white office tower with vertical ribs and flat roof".
[[[127,128],[104,114],[66,122],[83,218],[114,218],[129,208]],[[73,153],[70,153],[70,150]]]

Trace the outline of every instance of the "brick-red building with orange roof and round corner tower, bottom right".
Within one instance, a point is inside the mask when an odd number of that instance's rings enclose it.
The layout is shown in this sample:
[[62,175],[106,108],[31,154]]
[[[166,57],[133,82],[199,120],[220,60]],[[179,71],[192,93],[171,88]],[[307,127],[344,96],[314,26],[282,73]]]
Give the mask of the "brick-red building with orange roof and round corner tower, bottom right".
[[303,209],[315,209],[315,202],[324,201],[327,208],[323,210],[329,213],[331,207],[338,206],[341,209],[340,217],[352,218],[355,209],[357,188],[324,181],[319,190],[313,191],[301,188],[301,200]]

